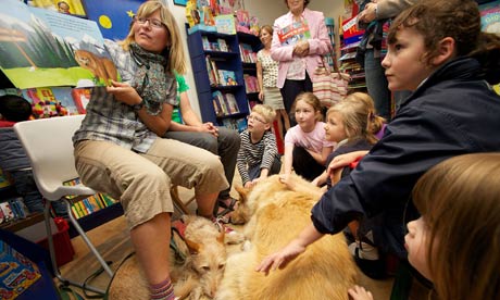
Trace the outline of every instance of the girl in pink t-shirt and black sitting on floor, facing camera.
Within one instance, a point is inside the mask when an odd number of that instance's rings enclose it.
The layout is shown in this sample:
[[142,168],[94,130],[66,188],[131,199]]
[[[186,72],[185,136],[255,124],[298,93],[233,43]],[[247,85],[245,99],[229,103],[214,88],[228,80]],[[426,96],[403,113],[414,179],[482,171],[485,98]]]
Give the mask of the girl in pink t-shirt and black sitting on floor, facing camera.
[[293,103],[297,125],[285,135],[286,182],[293,167],[296,174],[313,180],[325,171],[325,162],[335,142],[325,139],[321,102],[312,92],[302,92]]

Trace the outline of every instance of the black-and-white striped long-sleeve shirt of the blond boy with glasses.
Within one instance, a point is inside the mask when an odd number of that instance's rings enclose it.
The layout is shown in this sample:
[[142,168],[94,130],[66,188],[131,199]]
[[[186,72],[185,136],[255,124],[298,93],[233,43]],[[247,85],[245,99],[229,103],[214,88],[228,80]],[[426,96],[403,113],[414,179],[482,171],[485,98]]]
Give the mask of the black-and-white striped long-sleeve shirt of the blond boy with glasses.
[[241,176],[243,186],[250,182],[248,170],[260,164],[260,168],[271,170],[274,158],[278,154],[276,138],[271,132],[265,132],[264,136],[257,143],[252,143],[250,133],[245,130],[240,134],[241,146],[239,147],[236,160],[238,172]]

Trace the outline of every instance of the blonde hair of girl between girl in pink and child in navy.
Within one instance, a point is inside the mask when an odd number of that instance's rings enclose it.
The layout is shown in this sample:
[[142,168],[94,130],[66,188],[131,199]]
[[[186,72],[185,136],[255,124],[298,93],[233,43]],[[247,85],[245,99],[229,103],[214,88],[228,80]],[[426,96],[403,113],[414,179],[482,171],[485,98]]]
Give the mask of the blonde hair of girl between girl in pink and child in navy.
[[364,92],[348,95],[342,101],[335,103],[328,109],[326,115],[337,112],[342,116],[343,127],[348,140],[359,138],[366,139],[370,143],[375,143],[375,134],[384,125],[384,118],[374,113],[375,105],[372,97]]

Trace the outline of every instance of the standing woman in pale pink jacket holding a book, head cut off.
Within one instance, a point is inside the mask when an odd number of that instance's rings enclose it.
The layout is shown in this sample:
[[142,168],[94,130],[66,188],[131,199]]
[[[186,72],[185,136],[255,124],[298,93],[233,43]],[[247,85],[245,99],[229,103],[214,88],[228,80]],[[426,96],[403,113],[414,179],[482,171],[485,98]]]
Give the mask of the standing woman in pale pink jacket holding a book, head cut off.
[[[289,12],[274,22],[271,57],[279,62],[277,86],[289,116],[297,95],[312,91],[314,71],[329,50],[325,16],[308,9],[309,2],[285,0]],[[295,120],[290,123],[297,124]]]

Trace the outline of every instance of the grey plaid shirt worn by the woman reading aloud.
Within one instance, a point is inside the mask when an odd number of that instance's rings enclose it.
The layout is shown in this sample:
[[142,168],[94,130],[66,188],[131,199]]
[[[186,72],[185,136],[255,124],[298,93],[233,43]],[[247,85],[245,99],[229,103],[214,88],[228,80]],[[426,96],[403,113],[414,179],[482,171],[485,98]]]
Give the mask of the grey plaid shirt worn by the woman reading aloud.
[[[105,40],[105,48],[110,52],[122,82],[136,86],[134,74],[138,67],[128,51],[124,51],[114,41]],[[176,101],[175,77],[166,77],[168,93],[164,103],[174,105]],[[134,112],[132,107],[114,99],[107,93],[105,87],[95,87],[92,96],[86,108],[82,127],[73,136],[76,145],[79,140],[109,140],[126,149],[145,153],[158,138]]]

